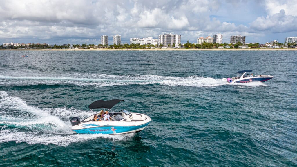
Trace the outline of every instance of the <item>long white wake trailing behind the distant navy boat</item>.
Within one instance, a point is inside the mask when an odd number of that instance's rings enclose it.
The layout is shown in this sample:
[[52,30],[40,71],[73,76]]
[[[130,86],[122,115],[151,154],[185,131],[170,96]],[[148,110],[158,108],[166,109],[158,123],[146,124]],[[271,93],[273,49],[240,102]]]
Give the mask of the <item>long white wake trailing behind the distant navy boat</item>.
[[[222,79],[204,78],[197,75],[188,77],[170,77],[159,75],[107,75],[68,73],[64,76],[4,76],[0,75],[2,84],[73,84],[78,86],[116,86],[147,85],[213,87],[227,85]],[[240,85],[240,84],[239,84]],[[263,84],[246,84],[246,86],[263,86]],[[264,86],[266,86],[264,84]]]

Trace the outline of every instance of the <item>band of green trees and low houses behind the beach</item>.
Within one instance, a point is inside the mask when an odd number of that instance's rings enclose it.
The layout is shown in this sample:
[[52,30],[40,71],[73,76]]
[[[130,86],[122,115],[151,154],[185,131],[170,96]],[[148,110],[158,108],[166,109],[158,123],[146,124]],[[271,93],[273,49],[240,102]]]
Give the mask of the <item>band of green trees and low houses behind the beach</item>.
[[[272,48],[272,49],[291,49],[291,48],[296,48],[297,44],[294,43],[274,43],[275,46],[279,46],[279,48]],[[178,47],[176,47],[178,46]],[[245,46],[245,47],[242,47]],[[267,48],[265,46],[260,46],[259,43],[249,43],[249,44],[242,44],[240,42],[237,42],[236,44],[232,44],[232,43],[207,43],[207,42],[203,42],[202,44],[195,44],[195,43],[189,43],[189,41],[185,44],[173,44],[173,45],[168,45],[168,46],[164,46],[161,44],[159,45],[151,45],[151,44],[147,44],[147,45],[140,45],[140,44],[121,44],[121,45],[102,45],[102,44],[98,44],[98,45],[94,45],[94,44],[64,44],[64,45],[42,45],[42,44],[30,44],[27,46],[6,46],[4,47],[3,45],[0,45],[0,49],[1,50],[49,50],[49,49],[98,49],[98,50],[127,50],[127,49],[137,49],[137,50],[154,50],[154,49],[161,49],[161,50],[169,50],[169,49],[173,49],[173,50],[192,50],[192,49],[224,49],[224,50],[228,50],[228,49],[268,49],[270,50],[271,48]]]

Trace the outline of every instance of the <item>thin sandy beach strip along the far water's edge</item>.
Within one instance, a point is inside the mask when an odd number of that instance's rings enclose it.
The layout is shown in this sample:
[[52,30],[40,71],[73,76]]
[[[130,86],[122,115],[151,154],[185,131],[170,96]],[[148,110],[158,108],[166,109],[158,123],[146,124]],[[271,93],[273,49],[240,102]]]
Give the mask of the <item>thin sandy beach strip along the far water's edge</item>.
[[0,49],[0,51],[297,51],[297,49]]

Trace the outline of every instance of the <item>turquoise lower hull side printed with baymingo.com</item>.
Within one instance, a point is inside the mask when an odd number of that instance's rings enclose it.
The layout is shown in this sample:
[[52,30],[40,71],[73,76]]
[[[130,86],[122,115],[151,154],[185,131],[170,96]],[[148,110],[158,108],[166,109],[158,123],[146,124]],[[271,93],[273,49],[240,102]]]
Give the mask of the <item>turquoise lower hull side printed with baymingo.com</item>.
[[137,130],[149,125],[149,122],[139,126],[106,126],[106,127],[90,127],[86,129],[73,130],[76,133],[91,133],[91,134],[117,134],[117,133],[127,133],[133,130]]

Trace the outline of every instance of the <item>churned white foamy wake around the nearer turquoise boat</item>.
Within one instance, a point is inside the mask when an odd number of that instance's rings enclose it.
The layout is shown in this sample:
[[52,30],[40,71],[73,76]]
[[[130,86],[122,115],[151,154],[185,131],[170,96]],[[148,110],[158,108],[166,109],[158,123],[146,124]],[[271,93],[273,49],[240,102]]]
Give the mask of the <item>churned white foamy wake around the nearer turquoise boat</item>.
[[[67,146],[96,138],[113,141],[130,140],[134,133],[121,135],[75,134],[71,131],[69,115],[87,116],[89,112],[75,108],[37,108],[19,97],[0,91],[0,143],[15,141],[29,144]],[[75,136],[73,136],[75,134]]]

